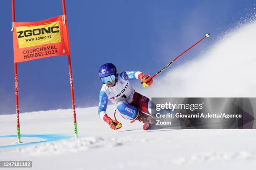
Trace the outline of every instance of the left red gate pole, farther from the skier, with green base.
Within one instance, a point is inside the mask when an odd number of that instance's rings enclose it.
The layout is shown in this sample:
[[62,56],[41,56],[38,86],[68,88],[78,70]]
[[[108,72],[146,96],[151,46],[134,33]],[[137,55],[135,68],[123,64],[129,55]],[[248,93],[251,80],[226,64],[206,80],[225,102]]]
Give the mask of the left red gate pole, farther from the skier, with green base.
[[[15,22],[15,3],[12,0],[13,22]],[[14,55],[14,54],[13,54]],[[15,82],[15,98],[16,98],[16,117],[17,117],[17,138],[20,142],[20,112],[19,112],[19,95],[18,95],[18,67],[17,62],[14,63],[14,82]]]

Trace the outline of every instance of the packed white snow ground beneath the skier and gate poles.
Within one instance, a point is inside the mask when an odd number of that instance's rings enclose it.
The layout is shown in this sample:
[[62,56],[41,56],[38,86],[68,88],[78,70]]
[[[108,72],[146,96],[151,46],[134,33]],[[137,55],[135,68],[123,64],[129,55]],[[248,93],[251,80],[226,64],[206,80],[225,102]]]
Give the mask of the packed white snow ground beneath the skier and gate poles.
[[[109,105],[108,110],[115,109]],[[113,117],[113,114],[110,113]],[[34,169],[233,169],[256,165],[255,130],[142,130],[119,114],[120,130],[112,130],[97,115],[97,107],[78,108],[79,138],[74,139],[72,110],[49,110],[20,114],[21,141],[0,137],[1,160],[33,161]],[[0,115],[0,134],[15,135],[15,115]],[[40,138],[29,136],[42,136]],[[67,138],[46,141],[44,136]],[[30,144],[29,144],[30,143]]]

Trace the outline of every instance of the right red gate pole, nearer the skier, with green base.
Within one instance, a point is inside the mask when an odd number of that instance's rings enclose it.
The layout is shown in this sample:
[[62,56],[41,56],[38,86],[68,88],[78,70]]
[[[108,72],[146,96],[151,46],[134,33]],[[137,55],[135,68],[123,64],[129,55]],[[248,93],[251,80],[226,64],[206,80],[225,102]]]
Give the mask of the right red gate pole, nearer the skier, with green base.
[[[66,5],[65,5],[65,0],[62,0],[62,9],[63,9],[63,15],[65,16],[64,19],[66,18]],[[72,66],[71,66],[71,57],[70,55],[68,56],[68,61],[69,61],[69,80],[70,80],[70,90],[71,90],[71,99],[72,99],[72,110],[73,110],[73,119],[74,119],[74,133],[75,133],[75,138],[78,138],[77,135],[77,116],[76,116],[76,107],[75,107],[75,100],[74,100],[74,84],[73,84],[73,74],[72,74]]]

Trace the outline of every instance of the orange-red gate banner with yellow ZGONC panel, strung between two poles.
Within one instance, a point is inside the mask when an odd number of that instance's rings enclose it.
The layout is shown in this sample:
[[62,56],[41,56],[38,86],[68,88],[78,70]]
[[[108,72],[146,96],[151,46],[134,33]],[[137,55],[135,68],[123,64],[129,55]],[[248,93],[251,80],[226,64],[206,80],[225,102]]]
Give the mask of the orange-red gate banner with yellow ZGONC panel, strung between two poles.
[[70,55],[65,15],[36,22],[13,22],[14,62]]

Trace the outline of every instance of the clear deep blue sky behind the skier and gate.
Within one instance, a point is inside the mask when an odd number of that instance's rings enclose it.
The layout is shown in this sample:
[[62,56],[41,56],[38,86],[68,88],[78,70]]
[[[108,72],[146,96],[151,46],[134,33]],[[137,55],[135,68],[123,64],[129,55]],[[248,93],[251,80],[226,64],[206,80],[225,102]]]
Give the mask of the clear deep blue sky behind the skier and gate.
[[[119,72],[139,70],[153,75],[211,33],[209,39],[177,60],[175,67],[196,57],[226,30],[255,15],[255,3],[255,0],[66,0],[76,107],[97,105],[102,86],[98,68],[105,62],[115,64]],[[20,22],[62,14],[61,0],[16,0],[15,10],[16,21]],[[11,0],[1,2],[0,21],[0,114],[14,114]],[[68,74],[66,56],[18,63],[20,112],[71,108]],[[142,92],[143,88],[136,90]]]

